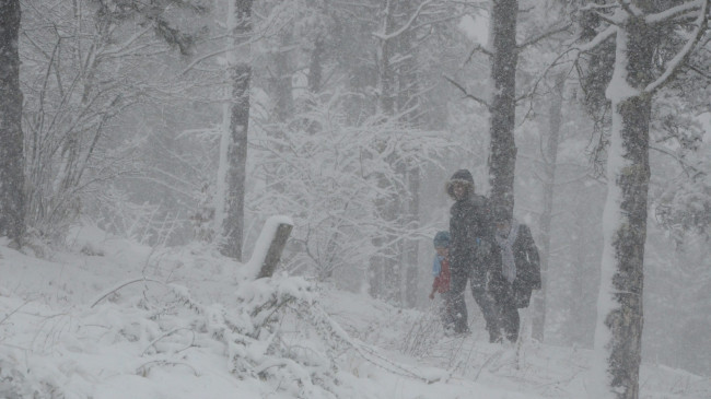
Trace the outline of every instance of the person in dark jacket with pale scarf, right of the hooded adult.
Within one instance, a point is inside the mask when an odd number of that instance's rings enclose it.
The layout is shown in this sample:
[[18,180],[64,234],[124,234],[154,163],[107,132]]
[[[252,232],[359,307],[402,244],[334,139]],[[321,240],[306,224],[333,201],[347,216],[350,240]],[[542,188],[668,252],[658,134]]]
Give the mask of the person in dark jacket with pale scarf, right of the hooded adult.
[[497,302],[499,326],[506,339],[518,339],[518,309],[528,307],[533,290],[540,289],[538,249],[531,230],[511,218],[505,209],[494,212],[493,268],[489,291]]

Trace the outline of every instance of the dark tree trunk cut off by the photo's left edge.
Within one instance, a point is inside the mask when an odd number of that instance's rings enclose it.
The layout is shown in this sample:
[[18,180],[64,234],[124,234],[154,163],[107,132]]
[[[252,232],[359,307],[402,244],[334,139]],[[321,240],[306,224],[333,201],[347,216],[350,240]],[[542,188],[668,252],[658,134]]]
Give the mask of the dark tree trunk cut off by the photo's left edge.
[[25,232],[20,20],[20,1],[0,3],[0,236],[18,246]]

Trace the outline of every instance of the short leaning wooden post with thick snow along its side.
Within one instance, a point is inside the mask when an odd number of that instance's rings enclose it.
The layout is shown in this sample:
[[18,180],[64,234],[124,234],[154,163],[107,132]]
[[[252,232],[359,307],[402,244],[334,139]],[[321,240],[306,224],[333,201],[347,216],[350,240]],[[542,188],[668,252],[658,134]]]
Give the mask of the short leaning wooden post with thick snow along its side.
[[294,222],[289,216],[275,215],[267,219],[254,246],[252,258],[245,263],[246,275],[261,279],[273,274],[293,226]]

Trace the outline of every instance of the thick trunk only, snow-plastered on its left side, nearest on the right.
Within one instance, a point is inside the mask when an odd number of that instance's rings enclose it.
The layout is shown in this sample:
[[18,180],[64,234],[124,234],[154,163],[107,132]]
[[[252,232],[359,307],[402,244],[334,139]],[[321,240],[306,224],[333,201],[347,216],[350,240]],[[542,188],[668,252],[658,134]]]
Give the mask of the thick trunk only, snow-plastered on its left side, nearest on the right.
[[596,398],[639,397],[651,115],[651,95],[643,89],[652,75],[657,43],[643,16],[630,15],[617,32],[615,69],[606,93],[613,127],[593,366],[603,379],[596,388],[604,391]]

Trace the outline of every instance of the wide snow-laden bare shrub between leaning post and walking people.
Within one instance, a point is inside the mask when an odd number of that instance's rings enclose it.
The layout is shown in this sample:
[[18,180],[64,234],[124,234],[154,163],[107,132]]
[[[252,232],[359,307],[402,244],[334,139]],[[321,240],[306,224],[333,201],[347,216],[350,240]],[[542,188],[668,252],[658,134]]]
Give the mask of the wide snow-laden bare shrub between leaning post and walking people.
[[397,210],[409,191],[403,171],[439,165],[452,145],[383,115],[352,124],[343,109],[349,96],[310,98],[308,109],[265,126],[250,142],[260,161],[248,203],[257,214],[293,216],[291,243],[299,250],[290,267],[320,280],[339,268],[358,270],[373,256],[397,257],[394,246],[424,235],[427,228]]

